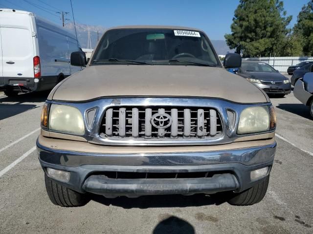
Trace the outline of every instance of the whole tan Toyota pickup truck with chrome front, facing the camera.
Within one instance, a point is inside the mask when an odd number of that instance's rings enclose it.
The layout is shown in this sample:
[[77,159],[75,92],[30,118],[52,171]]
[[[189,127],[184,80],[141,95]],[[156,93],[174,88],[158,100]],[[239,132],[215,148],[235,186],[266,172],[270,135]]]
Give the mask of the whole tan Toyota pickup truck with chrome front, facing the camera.
[[88,64],[59,83],[37,140],[52,203],[89,194],[223,193],[251,205],[266,194],[276,142],[268,96],[224,68],[204,32],[170,26],[106,31]]

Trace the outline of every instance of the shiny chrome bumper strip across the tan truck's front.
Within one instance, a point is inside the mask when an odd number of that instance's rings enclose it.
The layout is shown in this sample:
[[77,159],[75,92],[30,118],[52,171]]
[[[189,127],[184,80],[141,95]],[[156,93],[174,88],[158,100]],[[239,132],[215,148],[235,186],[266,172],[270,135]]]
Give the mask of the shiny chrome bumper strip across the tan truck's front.
[[93,154],[51,149],[37,141],[37,150],[40,160],[66,167],[82,165],[177,167],[218,163],[241,163],[248,166],[273,160],[276,142],[252,148],[207,152]]

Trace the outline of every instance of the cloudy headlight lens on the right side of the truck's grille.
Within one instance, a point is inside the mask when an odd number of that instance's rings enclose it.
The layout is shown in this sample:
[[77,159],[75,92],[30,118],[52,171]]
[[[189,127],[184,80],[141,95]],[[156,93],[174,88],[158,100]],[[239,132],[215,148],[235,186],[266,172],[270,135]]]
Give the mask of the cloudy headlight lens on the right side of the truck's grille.
[[253,106],[242,111],[238,134],[257,133],[269,130],[269,110],[268,106]]

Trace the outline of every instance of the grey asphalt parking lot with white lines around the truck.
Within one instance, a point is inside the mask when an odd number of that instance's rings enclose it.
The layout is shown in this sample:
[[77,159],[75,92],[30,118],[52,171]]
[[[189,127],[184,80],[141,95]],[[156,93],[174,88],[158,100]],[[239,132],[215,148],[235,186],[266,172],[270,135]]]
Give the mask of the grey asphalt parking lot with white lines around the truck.
[[[293,94],[272,97],[278,143],[265,198],[231,206],[208,195],[105,199],[61,208],[35,151],[48,93],[0,93],[0,233],[313,233],[313,119]],[[18,142],[17,142],[18,141]]]

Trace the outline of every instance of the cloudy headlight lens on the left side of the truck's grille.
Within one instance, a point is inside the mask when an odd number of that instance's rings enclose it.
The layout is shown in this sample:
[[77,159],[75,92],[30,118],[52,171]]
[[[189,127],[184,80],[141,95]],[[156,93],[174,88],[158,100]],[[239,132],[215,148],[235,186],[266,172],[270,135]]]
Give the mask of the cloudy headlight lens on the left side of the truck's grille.
[[51,104],[49,111],[49,129],[84,134],[85,126],[83,116],[75,107]]

